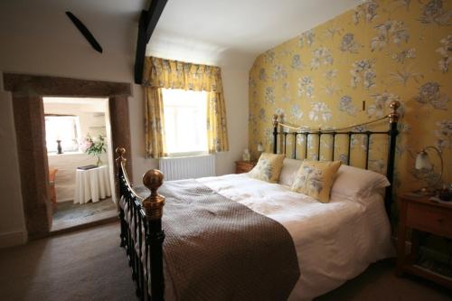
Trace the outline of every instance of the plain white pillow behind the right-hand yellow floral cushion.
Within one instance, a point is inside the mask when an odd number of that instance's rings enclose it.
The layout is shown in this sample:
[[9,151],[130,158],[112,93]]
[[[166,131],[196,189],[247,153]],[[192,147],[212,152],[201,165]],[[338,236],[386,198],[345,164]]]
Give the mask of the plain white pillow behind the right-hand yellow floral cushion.
[[363,201],[390,186],[386,176],[370,170],[341,165],[337,171],[331,194],[352,201]]

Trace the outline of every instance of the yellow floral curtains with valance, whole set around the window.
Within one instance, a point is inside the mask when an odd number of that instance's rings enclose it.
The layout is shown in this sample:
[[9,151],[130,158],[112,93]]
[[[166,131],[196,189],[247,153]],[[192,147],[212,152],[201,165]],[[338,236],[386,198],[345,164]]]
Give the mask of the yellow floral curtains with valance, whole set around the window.
[[229,150],[226,110],[219,67],[146,57],[143,86],[146,94],[146,154],[166,155],[162,89],[207,91],[209,152]]

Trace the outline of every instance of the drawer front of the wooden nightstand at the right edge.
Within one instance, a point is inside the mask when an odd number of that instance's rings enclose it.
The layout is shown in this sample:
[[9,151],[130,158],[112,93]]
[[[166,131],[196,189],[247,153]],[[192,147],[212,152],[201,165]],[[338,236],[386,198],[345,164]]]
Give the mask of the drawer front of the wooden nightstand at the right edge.
[[452,238],[452,212],[440,207],[409,202],[407,226]]

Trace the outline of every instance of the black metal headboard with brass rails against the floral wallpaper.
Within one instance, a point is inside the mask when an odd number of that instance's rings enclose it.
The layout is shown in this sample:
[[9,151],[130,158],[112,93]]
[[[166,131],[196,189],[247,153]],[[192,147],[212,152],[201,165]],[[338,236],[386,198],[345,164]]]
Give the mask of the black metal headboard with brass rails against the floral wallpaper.
[[[273,116],[273,153],[278,154],[278,141],[279,141],[279,152],[283,153],[284,155],[287,155],[287,136],[293,136],[293,153],[292,157],[294,159],[297,159],[297,136],[302,135],[305,136],[305,159],[307,158],[308,154],[308,138],[309,136],[317,136],[317,160],[320,160],[320,154],[321,154],[321,137],[324,135],[332,136],[332,157],[331,160],[334,161],[334,146],[336,141],[336,136],[348,136],[348,149],[347,149],[347,165],[350,165],[351,160],[351,147],[352,147],[352,136],[353,135],[361,135],[361,136],[367,136],[366,141],[366,147],[365,147],[365,169],[368,169],[369,167],[369,153],[370,153],[370,141],[371,136],[373,135],[386,135],[389,137],[389,143],[388,143],[388,159],[386,164],[386,177],[391,183],[391,186],[386,188],[385,193],[385,200],[384,205],[386,208],[386,212],[388,213],[388,216],[391,217],[391,202],[392,202],[392,187],[393,187],[393,180],[394,180],[394,161],[395,161],[395,149],[396,149],[396,138],[399,134],[399,131],[397,129],[397,122],[399,121],[400,114],[397,112],[397,109],[400,108],[400,102],[399,101],[392,101],[390,104],[391,107],[391,113],[388,114],[385,117],[378,118],[369,122],[356,124],[350,127],[342,127],[342,128],[334,128],[334,129],[308,129],[304,127],[296,127],[293,125],[289,125],[286,123],[282,123],[278,121],[278,115]],[[390,123],[390,128],[387,131],[356,131],[353,130],[355,127],[362,127],[370,124],[374,124],[376,122],[379,122],[381,120],[388,119]],[[284,128],[288,129],[288,131],[285,131]],[[292,131],[290,131],[292,130]]]

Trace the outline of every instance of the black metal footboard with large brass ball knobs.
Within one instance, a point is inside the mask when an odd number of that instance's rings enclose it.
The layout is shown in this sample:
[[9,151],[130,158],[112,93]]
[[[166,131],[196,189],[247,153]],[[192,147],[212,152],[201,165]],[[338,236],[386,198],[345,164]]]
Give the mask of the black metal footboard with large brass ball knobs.
[[[132,269],[132,279],[137,285],[136,294],[140,300],[164,300],[165,279],[163,269],[162,214],[165,197],[157,193],[164,175],[159,170],[149,170],[143,176],[143,183],[150,195],[143,198],[129,182],[124,157],[126,150],[118,147],[117,191],[122,208],[118,204],[121,224],[120,246],[126,249],[128,265]],[[127,210],[126,210],[127,208]],[[137,231],[138,230],[138,231]],[[152,267],[152,268],[151,268]]]

